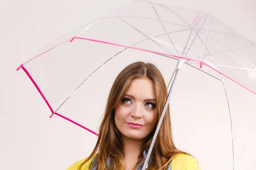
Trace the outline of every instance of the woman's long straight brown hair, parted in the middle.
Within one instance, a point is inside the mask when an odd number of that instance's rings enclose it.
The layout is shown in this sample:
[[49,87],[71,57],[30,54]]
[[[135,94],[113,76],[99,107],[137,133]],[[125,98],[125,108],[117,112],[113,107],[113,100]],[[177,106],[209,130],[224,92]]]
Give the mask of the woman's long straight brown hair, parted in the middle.
[[[122,99],[125,92],[128,90],[131,81],[133,79],[142,77],[147,77],[151,79],[154,84],[157,105],[156,122],[158,122],[168,96],[165,81],[162,74],[155,65],[151,63],[134,62],[125,67],[116,77],[112,85],[110,94],[108,96],[108,102],[105,108],[105,115],[99,127],[99,137],[96,146],[94,147],[90,156],[88,156],[87,159],[79,165],[78,170],[81,170],[83,164],[91,159],[96,153],[98,154],[91,165],[92,167],[97,164],[98,170],[107,170],[107,160],[108,158],[111,158],[109,169],[125,169],[121,133],[116,128],[114,123],[115,107],[117,103]],[[143,161],[143,151],[150,147],[155,128],[147,136],[147,140],[140,150],[140,155],[137,164],[134,166],[134,170],[136,170],[139,164]],[[170,120],[170,111],[168,107],[163,119],[163,123],[160,127],[153,151],[151,153],[152,161],[151,164],[148,165],[148,168],[167,169],[169,162],[180,153],[188,154],[178,150],[175,147],[172,139],[172,127]]]

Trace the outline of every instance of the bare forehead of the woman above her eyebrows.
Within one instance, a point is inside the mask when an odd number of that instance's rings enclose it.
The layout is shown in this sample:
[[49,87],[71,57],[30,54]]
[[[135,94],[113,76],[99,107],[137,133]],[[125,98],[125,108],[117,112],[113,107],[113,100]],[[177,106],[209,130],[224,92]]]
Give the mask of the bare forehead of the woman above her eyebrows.
[[126,94],[136,98],[155,98],[154,83],[148,78],[133,79]]

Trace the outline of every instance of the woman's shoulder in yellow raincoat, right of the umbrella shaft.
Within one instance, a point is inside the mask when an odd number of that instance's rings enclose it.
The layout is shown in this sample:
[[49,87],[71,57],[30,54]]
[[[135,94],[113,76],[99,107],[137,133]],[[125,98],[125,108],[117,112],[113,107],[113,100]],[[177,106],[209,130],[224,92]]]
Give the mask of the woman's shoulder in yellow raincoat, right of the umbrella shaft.
[[201,170],[198,159],[188,154],[180,153],[172,159],[172,170]]

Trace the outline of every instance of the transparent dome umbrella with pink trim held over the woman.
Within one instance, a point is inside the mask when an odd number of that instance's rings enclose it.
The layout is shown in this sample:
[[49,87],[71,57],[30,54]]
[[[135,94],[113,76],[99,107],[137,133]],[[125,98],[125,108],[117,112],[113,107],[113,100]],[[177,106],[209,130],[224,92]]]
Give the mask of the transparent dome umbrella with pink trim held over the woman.
[[[209,13],[133,1],[63,35],[17,70],[22,68],[35,85],[50,117],[88,130],[90,138],[98,135],[117,74],[135,61],[154,63],[169,90],[161,118],[170,103],[178,147],[197,156],[202,169],[250,169],[255,159],[244,153],[245,147],[256,148],[239,145],[239,122],[233,122],[232,114],[236,104],[229,94],[234,87],[256,94],[255,47]],[[244,119],[253,122],[250,116]],[[256,141],[255,133],[250,136]],[[148,156],[153,147],[154,140]]]

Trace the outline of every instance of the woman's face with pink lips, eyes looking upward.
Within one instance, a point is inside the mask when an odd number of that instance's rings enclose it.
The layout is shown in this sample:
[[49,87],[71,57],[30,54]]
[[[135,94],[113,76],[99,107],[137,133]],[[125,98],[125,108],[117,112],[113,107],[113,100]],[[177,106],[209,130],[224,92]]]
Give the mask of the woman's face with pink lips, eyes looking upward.
[[148,78],[134,79],[115,108],[115,124],[123,136],[144,139],[155,126],[156,96]]

